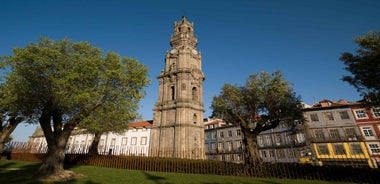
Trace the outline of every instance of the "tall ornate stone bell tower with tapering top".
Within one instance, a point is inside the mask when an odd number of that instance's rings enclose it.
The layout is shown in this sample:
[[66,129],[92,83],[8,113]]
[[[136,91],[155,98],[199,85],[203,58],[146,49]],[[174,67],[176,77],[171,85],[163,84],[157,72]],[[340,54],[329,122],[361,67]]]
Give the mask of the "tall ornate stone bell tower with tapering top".
[[154,106],[151,155],[204,159],[203,81],[201,53],[194,24],[182,17],[174,23],[172,49],[166,51]]

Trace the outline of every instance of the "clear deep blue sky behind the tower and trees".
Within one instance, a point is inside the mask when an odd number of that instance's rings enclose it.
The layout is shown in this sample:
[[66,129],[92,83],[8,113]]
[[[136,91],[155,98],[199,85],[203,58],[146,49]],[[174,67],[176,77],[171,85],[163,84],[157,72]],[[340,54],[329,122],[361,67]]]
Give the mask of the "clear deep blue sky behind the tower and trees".
[[[223,84],[243,84],[260,71],[280,70],[308,104],[357,101],[360,95],[341,81],[349,73],[339,56],[357,48],[354,37],[380,29],[379,9],[378,0],[0,0],[0,56],[43,36],[136,58],[152,80],[139,111],[148,120],[174,21],[185,15],[202,52],[205,117]],[[14,140],[26,141],[34,129],[19,125]]]

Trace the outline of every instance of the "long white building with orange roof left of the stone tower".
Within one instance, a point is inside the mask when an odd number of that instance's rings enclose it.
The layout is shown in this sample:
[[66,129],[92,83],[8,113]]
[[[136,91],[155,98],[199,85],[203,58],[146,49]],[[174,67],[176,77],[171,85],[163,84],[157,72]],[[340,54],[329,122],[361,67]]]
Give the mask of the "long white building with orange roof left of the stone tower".
[[[107,132],[101,135],[99,154],[149,156],[150,131],[152,121],[130,123],[122,133]],[[66,145],[67,154],[85,154],[92,144],[94,135],[84,129],[74,129]],[[46,153],[47,143],[44,133],[37,127],[29,137],[31,153]]]

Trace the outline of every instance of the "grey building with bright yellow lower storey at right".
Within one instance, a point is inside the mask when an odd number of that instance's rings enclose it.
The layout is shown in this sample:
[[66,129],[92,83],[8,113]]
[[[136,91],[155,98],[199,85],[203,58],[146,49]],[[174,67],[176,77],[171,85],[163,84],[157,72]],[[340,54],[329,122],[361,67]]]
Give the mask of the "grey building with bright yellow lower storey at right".
[[373,167],[351,110],[360,105],[322,100],[304,109],[311,163]]

